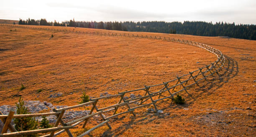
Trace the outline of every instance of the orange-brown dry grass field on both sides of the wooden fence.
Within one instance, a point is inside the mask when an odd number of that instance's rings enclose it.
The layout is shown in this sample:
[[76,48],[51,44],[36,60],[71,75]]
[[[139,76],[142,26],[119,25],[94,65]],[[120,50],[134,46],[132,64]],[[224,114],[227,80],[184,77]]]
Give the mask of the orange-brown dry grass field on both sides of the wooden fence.
[[[186,104],[157,103],[167,114],[136,110],[90,133],[93,137],[226,137],[256,134],[256,41],[181,34],[123,32],[89,28],[33,26],[75,31],[129,33],[179,38],[208,44],[225,55],[223,79],[200,81],[203,88],[182,93]],[[12,31],[10,31],[12,30]],[[51,38],[51,35],[54,35]],[[217,57],[195,46],[160,40],[90,36],[0,26],[0,106],[19,96],[54,105],[76,105],[80,96],[99,97],[161,84],[205,66]],[[20,91],[21,84],[26,89]],[[41,92],[37,92],[42,89]],[[51,91],[51,92],[50,92]],[[62,92],[58,98],[50,94]],[[142,94],[141,94],[142,95]],[[105,103],[114,103],[108,99]],[[105,104],[104,103],[104,104]],[[249,108],[247,108],[249,107]],[[97,122],[90,119],[89,129]],[[81,134],[86,129],[71,129]],[[66,133],[63,133],[63,136]]]

